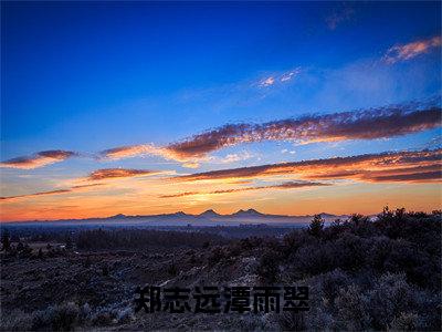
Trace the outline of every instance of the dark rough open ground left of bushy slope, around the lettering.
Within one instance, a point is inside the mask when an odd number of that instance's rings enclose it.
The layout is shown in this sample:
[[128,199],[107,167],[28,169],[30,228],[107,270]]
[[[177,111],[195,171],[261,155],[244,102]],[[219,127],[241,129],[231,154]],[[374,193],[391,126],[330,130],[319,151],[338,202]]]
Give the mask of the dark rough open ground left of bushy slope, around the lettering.
[[262,317],[250,314],[218,314],[214,319],[201,313],[135,313],[138,286],[259,284],[255,257],[214,261],[217,249],[63,250],[53,257],[43,251],[42,258],[3,258],[2,330],[64,330],[52,322],[54,314],[73,320],[69,328],[87,330],[234,329],[265,323]]

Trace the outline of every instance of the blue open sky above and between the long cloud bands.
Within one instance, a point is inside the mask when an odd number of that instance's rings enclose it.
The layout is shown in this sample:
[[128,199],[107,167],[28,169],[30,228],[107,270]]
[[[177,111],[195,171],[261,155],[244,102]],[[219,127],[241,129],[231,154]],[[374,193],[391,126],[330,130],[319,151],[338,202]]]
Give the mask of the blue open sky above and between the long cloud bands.
[[[227,123],[440,103],[440,44],[386,61],[394,45],[440,38],[440,2],[2,2],[1,159],[164,146]],[[249,143],[211,154],[236,155],[231,164],[212,159],[198,170],[421,149],[438,137],[433,127],[386,139]],[[186,170],[147,156],[25,172],[43,172],[44,181],[48,172],[103,167]],[[28,190],[23,170],[2,174],[4,195]]]

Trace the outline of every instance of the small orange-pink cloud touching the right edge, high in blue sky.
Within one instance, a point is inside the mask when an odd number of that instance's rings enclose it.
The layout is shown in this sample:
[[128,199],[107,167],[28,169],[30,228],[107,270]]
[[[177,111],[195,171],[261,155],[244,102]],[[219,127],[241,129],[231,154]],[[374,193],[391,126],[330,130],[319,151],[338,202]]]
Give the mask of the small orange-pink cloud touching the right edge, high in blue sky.
[[407,44],[398,44],[388,49],[383,55],[383,60],[387,63],[396,63],[400,61],[407,61],[418,55],[429,53],[433,49],[440,48],[442,44],[442,37],[435,35],[430,39],[418,40]]

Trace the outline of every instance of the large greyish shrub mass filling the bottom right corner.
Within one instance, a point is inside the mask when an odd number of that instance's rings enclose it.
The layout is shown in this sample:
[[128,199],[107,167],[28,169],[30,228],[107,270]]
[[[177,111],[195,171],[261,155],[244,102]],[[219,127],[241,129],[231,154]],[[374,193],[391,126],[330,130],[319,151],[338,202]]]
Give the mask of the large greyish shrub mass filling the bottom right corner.
[[386,273],[367,289],[341,288],[329,312],[337,312],[336,329],[435,331],[441,326],[438,299],[409,284],[403,273]]

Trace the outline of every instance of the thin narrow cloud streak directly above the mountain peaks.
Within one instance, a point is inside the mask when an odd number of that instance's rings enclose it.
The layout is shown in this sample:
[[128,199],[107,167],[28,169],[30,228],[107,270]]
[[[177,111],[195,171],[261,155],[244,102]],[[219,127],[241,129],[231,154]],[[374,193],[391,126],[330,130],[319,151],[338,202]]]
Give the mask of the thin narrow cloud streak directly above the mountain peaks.
[[185,191],[172,195],[161,195],[159,197],[176,198],[176,197],[196,196],[196,195],[220,195],[220,194],[232,194],[232,193],[252,191],[252,190],[296,189],[296,188],[319,187],[319,186],[329,186],[329,184],[313,183],[313,181],[286,181],[283,184],[272,185],[272,186],[243,187],[243,188],[213,190],[213,191]]

